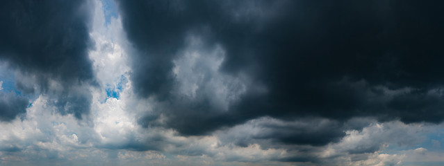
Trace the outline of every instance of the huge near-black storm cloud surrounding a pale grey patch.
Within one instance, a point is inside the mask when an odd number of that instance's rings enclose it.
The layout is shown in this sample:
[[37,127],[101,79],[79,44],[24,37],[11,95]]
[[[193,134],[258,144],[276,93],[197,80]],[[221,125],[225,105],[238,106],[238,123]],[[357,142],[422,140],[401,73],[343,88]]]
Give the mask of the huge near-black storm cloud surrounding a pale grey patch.
[[[444,119],[437,90],[444,85],[442,1],[118,2],[138,50],[131,77],[135,92],[165,103],[158,109],[167,126],[183,134],[260,116]],[[174,95],[172,60],[189,34],[208,47],[224,48],[220,72],[247,73],[268,93],[247,91],[228,111],[208,104],[211,96],[187,102]],[[141,123],[150,119],[155,118]],[[330,141],[321,135],[313,136]]]

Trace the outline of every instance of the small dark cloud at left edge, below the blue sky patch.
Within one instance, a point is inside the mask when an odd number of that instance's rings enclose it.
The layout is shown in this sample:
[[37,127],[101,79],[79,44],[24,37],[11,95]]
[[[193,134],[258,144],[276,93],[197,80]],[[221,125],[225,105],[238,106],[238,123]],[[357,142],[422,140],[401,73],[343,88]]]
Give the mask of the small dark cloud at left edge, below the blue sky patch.
[[27,98],[13,93],[0,92],[0,121],[10,121],[16,116],[26,113],[29,102]]

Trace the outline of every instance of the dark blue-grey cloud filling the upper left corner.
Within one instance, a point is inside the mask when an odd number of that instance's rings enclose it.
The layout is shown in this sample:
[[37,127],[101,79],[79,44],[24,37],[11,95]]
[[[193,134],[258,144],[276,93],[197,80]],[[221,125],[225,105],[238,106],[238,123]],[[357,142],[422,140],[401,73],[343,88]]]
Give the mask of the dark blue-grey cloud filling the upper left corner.
[[[93,79],[88,57],[89,7],[85,1],[2,1],[0,6],[0,59],[22,73],[16,88],[24,93],[51,93],[51,80],[60,82],[63,94],[70,86]],[[30,78],[34,79],[31,80]],[[65,100],[65,97],[60,97]],[[69,98],[70,99],[70,98]],[[58,102],[65,113],[89,112],[88,96]]]

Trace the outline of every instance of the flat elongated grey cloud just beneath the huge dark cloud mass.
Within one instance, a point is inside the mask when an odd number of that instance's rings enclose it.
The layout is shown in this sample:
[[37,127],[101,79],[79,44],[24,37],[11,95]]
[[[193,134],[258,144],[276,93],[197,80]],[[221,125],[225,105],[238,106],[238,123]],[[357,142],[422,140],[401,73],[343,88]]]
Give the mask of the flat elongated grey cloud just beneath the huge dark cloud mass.
[[[350,123],[350,122],[348,122]],[[365,125],[366,126],[366,125]],[[313,145],[320,147],[338,142],[345,136],[349,125],[320,118],[300,118],[295,121],[258,118],[238,125],[228,131],[217,132],[223,143],[234,143],[247,147],[254,143],[263,149],[272,147],[288,148],[288,145]]]

